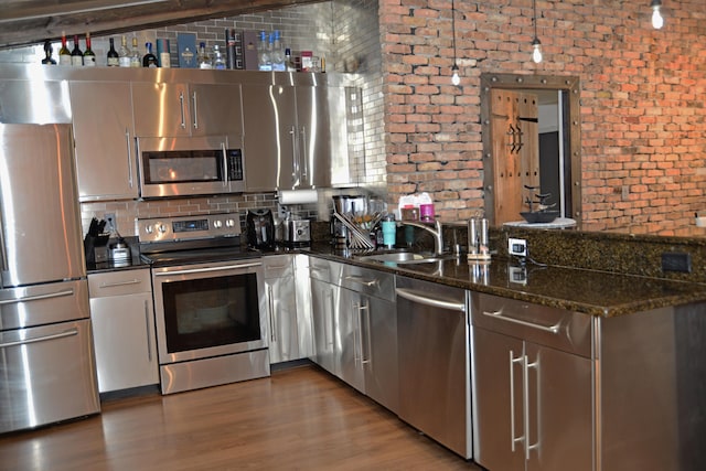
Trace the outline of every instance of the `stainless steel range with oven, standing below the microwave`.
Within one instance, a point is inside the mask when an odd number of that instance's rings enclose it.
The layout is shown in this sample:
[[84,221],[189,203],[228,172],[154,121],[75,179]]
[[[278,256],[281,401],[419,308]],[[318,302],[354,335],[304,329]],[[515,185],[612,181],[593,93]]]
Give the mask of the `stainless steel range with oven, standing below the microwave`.
[[237,214],[137,220],[152,267],[162,394],[269,376],[257,251]]

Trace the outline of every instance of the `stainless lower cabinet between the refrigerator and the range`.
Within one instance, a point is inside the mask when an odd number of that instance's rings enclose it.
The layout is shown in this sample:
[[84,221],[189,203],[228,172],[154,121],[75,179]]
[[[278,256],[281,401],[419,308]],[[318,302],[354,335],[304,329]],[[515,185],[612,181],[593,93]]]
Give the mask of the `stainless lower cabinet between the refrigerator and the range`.
[[98,390],[159,384],[149,269],[88,275]]

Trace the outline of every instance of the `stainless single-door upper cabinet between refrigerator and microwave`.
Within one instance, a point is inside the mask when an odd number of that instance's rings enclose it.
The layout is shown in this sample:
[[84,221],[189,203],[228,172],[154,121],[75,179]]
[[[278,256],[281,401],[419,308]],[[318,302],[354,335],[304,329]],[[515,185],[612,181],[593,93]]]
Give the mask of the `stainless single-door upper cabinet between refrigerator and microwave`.
[[79,201],[138,197],[130,84],[72,82]]

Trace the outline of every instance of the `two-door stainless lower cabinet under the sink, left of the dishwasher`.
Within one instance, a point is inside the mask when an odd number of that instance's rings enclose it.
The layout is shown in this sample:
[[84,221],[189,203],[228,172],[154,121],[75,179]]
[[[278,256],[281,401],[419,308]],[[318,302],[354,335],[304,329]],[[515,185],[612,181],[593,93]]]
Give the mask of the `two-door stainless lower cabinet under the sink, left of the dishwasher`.
[[314,363],[397,411],[394,276],[311,259]]

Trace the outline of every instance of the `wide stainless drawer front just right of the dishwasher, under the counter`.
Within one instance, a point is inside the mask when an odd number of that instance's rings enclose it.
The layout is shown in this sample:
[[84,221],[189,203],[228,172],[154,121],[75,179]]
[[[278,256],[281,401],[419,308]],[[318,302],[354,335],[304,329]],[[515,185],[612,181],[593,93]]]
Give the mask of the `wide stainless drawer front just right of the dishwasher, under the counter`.
[[471,319],[477,328],[586,357],[591,355],[591,315],[478,292],[471,298]]

